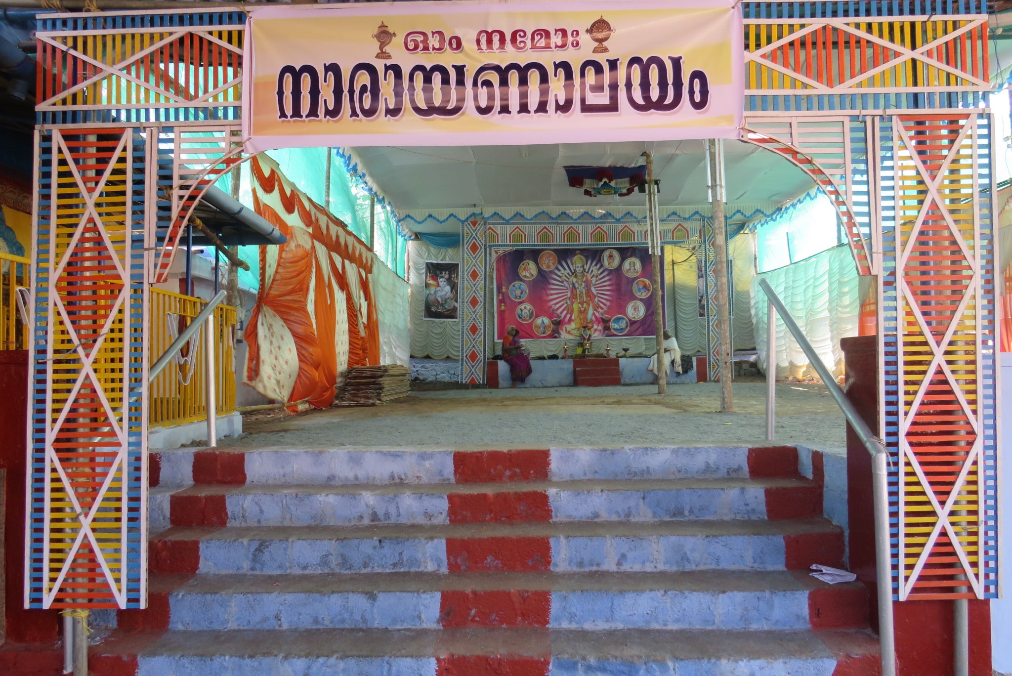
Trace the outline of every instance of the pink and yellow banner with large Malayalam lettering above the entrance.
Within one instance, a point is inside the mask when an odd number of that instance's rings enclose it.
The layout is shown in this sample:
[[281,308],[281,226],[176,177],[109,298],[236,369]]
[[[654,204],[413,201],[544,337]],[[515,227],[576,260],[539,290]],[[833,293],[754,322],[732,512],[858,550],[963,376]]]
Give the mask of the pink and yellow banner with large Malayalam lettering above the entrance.
[[733,0],[250,11],[249,150],[737,138]]

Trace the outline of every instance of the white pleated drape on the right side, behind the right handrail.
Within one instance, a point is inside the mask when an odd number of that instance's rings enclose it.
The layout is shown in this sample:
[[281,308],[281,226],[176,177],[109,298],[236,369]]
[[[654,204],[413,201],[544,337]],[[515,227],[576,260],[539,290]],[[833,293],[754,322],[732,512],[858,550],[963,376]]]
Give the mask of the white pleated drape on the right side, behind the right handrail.
[[[847,245],[834,247],[784,267],[758,274],[752,281],[752,322],[759,337],[759,363],[766,368],[766,294],[759,288],[766,279],[783,301],[823,363],[840,376],[844,372],[840,339],[857,335],[861,310],[857,266]],[[809,359],[782,320],[777,322],[776,373],[778,376],[816,375]]]

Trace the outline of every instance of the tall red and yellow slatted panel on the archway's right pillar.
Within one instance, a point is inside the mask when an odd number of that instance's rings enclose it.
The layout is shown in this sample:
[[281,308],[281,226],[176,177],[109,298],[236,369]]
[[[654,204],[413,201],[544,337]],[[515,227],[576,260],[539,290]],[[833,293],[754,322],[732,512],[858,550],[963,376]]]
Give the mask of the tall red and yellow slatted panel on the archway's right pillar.
[[901,598],[983,593],[980,134],[974,113],[894,124]]

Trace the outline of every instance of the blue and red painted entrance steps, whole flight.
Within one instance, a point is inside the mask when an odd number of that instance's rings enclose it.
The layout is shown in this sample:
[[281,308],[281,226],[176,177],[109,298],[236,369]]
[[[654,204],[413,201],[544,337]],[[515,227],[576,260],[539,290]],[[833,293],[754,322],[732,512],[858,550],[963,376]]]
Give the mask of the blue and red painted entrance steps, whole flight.
[[163,451],[150,607],[95,664],[876,674],[867,590],[806,570],[843,566],[823,468],[795,447]]

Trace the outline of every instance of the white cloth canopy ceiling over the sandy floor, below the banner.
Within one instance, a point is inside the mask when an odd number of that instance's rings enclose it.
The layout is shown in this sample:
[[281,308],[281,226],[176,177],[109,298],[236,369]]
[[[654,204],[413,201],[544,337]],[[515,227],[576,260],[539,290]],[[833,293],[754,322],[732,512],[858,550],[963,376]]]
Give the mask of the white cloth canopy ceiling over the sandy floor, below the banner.
[[[664,207],[708,202],[704,141],[459,148],[359,148],[355,154],[376,186],[418,232],[455,232],[456,221],[424,222],[425,212],[531,207],[614,210],[645,208],[646,195],[588,197],[570,187],[564,167],[638,166],[654,154]],[[779,203],[813,184],[802,169],[755,146],[725,144],[728,202]],[[422,222],[422,223],[417,223]]]

